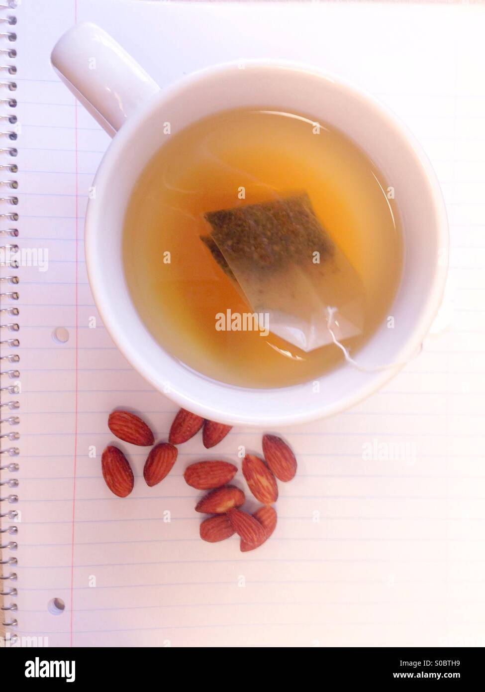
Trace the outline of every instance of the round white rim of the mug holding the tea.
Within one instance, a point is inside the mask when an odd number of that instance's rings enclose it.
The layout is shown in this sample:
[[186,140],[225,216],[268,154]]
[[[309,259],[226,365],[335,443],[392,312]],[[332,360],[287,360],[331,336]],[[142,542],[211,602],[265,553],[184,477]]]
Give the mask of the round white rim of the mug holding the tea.
[[[132,141],[136,132],[143,126],[143,122],[149,118],[152,113],[159,111],[163,107],[163,103],[167,102],[170,98],[176,98],[178,93],[183,93],[186,89],[189,89],[192,84],[196,82],[201,82],[207,80],[208,78],[216,77],[218,75],[223,75],[227,71],[233,71],[235,67],[239,66],[239,61],[225,62],[221,64],[216,64],[212,66],[205,67],[199,71],[186,75],[181,80],[176,80],[173,84],[161,89],[155,93],[152,98],[150,98],[145,104],[140,106],[140,109],[130,116],[130,118],[125,122],[125,124],[116,133],[109,144],[107,151],[102,157],[100,166],[98,167],[98,172],[95,174],[95,179],[93,185],[98,187],[103,187],[102,183],[107,180],[110,172],[119,165],[120,152],[123,148],[127,146],[127,143]],[[298,62],[286,61],[286,60],[247,60],[244,61],[245,66],[253,68],[256,71],[260,69],[264,70],[284,70],[304,72],[306,75],[313,75],[316,78],[323,79],[326,82],[330,82],[335,85],[336,88],[345,90],[349,95],[354,96],[363,101],[363,104],[368,109],[377,109],[378,113],[383,116],[389,125],[392,126],[394,134],[399,136],[401,143],[410,149],[412,154],[417,158],[417,164],[421,167],[427,179],[430,190],[429,198],[432,202],[433,212],[434,212],[434,235],[439,239],[441,246],[448,247],[448,221],[446,218],[446,209],[443,202],[443,197],[441,194],[441,188],[437,181],[436,174],[432,169],[432,165],[428,160],[425,152],[423,151],[421,145],[416,140],[414,135],[408,130],[408,127],[404,125],[403,122],[396,116],[390,109],[388,109],[385,104],[382,104],[373,95],[367,93],[360,87],[342,80],[342,78],[336,77],[331,73],[320,71],[314,66],[309,66],[301,64]],[[222,111],[223,108],[218,109]],[[195,122],[199,118],[194,118],[192,122]],[[149,158],[146,159],[148,163]],[[102,195],[100,195],[102,197]],[[138,349],[136,345],[130,343],[129,336],[127,332],[124,331],[123,327],[120,325],[120,321],[113,320],[110,313],[109,302],[107,302],[107,296],[103,293],[102,289],[102,266],[100,263],[96,262],[95,253],[93,252],[95,248],[95,234],[102,232],[102,229],[98,228],[100,221],[99,214],[99,204],[95,203],[95,200],[90,199],[86,209],[86,221],[85,221],[85,246],[86,246],[86,268],[89,275],[89,282],[91,284],[91,289],[93,291],[93,296],[95,303],[100,312],[100,316],[107,327],[111,338],[113,338],[118,349],[125,355],[131,365],[134,366],[140,374],[142,374],[147,381],[152,383],[156,390],[163,391],[163,381],[161,376],[157,376],[154,372],[154,366],[146,363],[143,358],[140,358]],[[122,228],[116,230],[120,239],[122,238]],[[206,406],[199,399],[187,395],[187,392],[179,392],[176,388],[172,388],[170,392],[164,392],[168,397],[176,401],[180,406],[192,410],[194,413],[202,415],[203,417],[208,417],[216,419],[221,422],[226,422],[230,424],[246,424],[246,425],[292,425],[299,424],[305,421],[311,421],[318,419],[319,417],[327,417],[329,415],[334,415],[342,410],[345,410],[351,406],[354,406],[359,401],[365,399],[369,394],[375,392],[381,388],[387,381],[389,381],[396,372],[401,370],[405,362],[408,361],[415,352],[418,351],[421,346],[422,340],[425,337],[428,329],[437,313],[439,304],[441,303],[444,285],[446,282],[447,267],[440,266],[438,262],[432,267],[434,277],[432,280],[431,290],[425,298],[425,309],[423,309],[420,319],[414,323],[414,329],[410,335],[403,340],[399,348],[399,358],[396,358],[395,367],[389,367],[381,372],[373,372],[372,374],[366,374],[359,386],[356,386],[351,394],[347,394],[345,397],[338,397],[332,403],[327,403],[320,408],[311,408],[308,410],[288,410],[288,412],[274,416],[271,413],[261,411],[254,413],[253,411],[241,412],[231,412],[229,415],[227,411],[224,410],[223,401],[221,401],[221,406],[218,409],[214,406]],[[126,283],[126,282],[125,282]],[[141,318],[140,318],[141,319]],[[372,340],[372,337],[371,337]],[[163,346],[158,344],[158,348],[170,356]],[[187,366],[176,361],[173,356],[170,356],[176,367],[185,368],[187,372]],[[331,372],[336,372],[341,370],[342,367],[346,367],[345,363],[337,366],[331,370]],[[200,374],[193,372],[192,376],[194,378],[200,378]],[[320,376],[320,379],[324,378],[326,374]],[[244,392],[250,392],[253,397],[258,397],[262,392],[289,392],[291,390],[298,390],[304,386],[306,383],[300,383],[297,385],[291,385],[281,388],[271,388],[271,389],[257,389],[257,388],[240,388],[237,385],[228,385],[227,383],[208,380],[211,385],[216,386],[221,390],[221,399],[223,399],[223,391],[230,390],[243,390]]]

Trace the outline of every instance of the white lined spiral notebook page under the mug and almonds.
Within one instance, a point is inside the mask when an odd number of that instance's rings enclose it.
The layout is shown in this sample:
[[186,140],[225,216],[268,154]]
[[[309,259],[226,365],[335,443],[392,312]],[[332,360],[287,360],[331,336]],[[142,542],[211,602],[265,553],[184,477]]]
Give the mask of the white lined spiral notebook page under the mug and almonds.
[[[0,8],[3,643],[483,646],[483,6],[7,4]],[[166,439],[176,407],[113,346],[87,282],[84,210],[109,138],[51,69],[51,48],[75,21],[100,24],[160,84],[257,56],[339,73],[408,123],[441,181],[452,249],[439,333],[356,408],[281,430],[298,476],[280,484],[277,529],[253,552],[239,552],[235,538],[199,539],[198,493],[182,477],[187,462],[203,458],[199,438],[181,446],[172,473],[154,488],[141,477],[144,450],[129,445],[134,492],[121,500],[102,481],[109,411],[139,410]],[[261,433],[235,428],[217,454],[236,460],[239,444],[260,448]]]

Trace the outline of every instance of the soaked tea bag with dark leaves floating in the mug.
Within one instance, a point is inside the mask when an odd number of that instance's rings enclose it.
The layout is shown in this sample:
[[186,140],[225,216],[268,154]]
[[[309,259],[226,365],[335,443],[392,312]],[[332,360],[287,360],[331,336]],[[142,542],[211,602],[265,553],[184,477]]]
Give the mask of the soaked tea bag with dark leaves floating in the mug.
[[308,194],[208,212],[205,220],[210,233],[201,239],[273,334],[309,352],[362,332],[362,282]]

